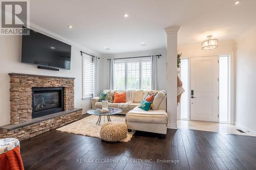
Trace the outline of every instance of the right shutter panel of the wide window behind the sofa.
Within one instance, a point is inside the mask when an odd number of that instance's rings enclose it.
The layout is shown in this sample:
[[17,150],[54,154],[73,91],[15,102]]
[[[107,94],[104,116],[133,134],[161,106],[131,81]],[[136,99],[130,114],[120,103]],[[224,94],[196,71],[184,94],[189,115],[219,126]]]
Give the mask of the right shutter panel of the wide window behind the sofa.
[[141,61],[141,89],[151,90],[151,60]]

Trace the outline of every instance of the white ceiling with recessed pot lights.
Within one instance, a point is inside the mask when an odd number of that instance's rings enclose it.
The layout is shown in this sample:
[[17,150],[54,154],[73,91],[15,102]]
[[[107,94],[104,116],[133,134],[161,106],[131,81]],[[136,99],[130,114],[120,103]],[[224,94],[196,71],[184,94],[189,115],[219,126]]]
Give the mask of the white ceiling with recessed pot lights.
[[[33,0],[31,22],[92,50],[124,53],[165,47],[164,28],[180,25],[179,44],[207,35],[234,40],[256,25],[256,1],[242,0]],[[129,18],[123,18],[129,13]],[[67,26],[72,25],[69,29]],[[146,46],[141,46],[141,42]],[[104,50],[104,46],[111,48]]]

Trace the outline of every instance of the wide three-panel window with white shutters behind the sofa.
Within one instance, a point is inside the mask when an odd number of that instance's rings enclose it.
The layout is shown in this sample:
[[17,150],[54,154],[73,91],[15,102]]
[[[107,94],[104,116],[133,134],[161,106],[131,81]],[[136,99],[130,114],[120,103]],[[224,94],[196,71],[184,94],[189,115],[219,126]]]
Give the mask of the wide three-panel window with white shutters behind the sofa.
[[115,90],[151,90],[152,58],[114,60]]

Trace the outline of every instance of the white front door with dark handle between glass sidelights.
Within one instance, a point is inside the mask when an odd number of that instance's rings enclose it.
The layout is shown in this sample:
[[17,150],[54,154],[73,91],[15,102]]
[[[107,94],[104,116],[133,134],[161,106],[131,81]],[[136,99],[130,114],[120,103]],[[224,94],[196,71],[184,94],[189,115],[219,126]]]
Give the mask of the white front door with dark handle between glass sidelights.
[[218,56],[190,60],[190,119],[219,122]]

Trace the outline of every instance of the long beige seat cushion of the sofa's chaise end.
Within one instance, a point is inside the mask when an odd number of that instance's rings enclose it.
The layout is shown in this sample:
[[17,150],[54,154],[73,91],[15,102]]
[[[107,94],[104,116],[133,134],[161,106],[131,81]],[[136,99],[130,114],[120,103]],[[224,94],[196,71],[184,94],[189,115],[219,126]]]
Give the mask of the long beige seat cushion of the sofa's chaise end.
[[167,113],[165,110],[144,111],[139,107],[129,111],[125,117],[127,122],[149,123],[149,124],[167,124]]

